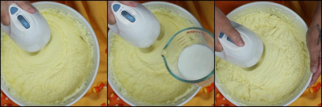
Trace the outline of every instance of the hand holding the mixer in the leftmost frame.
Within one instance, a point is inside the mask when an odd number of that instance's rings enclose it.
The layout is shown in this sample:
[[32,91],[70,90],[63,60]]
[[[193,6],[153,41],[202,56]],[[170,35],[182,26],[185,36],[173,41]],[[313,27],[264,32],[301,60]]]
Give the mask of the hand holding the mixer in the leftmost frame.
[[1,23],[5,26],[10,24],[10,17],[8,12],[8,7],[10,4],[16,3],[22,9],[29,13],[35,13],[36,9],[31,5],[29,1],[1,1]]

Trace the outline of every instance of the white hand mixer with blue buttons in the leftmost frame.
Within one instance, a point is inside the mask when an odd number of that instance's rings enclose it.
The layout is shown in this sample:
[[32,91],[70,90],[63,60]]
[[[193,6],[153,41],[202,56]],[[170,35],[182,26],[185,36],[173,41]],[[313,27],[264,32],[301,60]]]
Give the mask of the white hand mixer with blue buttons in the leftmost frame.
[[29,13],[16,3],[9,6],[10,24],[1,27],[9,37],[21,48],[28,52],[42,49],[50,39],[50,28],[43,15]]

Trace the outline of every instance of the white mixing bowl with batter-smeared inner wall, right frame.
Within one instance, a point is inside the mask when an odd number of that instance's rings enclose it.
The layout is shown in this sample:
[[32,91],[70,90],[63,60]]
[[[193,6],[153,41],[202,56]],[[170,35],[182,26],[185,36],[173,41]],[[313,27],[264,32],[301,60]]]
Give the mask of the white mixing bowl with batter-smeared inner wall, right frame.
[[[232,17],[244,12],[245,10],[250,9],[250,8],[254,8],[254,7],[256,7],[256,8],[274,8],[274,10],[280,11],[281,13],[288,15],[291,18],[291,20],[294,23],[298,23],[300,28],[302,28],[303,30],[305,30],[305,31],[308,30],[308,26],[303,21],[303,19],[300,16],[298,16],[297,13],[295,13],[294,11],[292,11],[291,9],[289,9],[288,7],[286,7],[284,5],[273,3],[273,2],[252,2],[252,3],[244,4],[236,9],[234,9],[229,14],[227,14],[227,17],[232,18]],[[279,10],[279,9],[281,9],[281,10]],[[307,54],[308,54],[308,51],[307,51]],[[291,96],[289,99],[287,99],[279,104],[271,105],[271,106],[287,106],[287,105],[293,103],[296,99],[298,99],[298,97],[300,97],[304,93],[304,91],[308,87],[311,77],[312,77],[312,73],[310,72],[310,68],[307,67],[304,78],[298,78],[298,81],[302,81],[302,83],[300,86],[298,86],[296,91],[293,92],[295,94],[292,94],[293,96]],[[217,86],[219,92],[221,94],[223,94],[223,96],[227,100],[229,100],[230,102],[232,102],[236,106],[251,106],[251,105],[247,105],[242,102],[238,102],[237,98],[228,97],[230,95],[227,95],[228,94],[227,91],[225,91],[223,87],[220,87],[220,86],[223,86],[220,84],[221,84],[220,80],[218,79],[218,77],[216,78],[216,76],[215,76],[215,85]]]

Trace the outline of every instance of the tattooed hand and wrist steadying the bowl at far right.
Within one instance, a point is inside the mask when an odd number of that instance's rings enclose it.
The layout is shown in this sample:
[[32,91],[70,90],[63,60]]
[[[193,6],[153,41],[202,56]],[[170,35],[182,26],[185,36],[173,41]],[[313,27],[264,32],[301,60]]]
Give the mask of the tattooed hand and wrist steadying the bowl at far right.
[[321,75],[321,1],[317,2],[311,25],[306,32],[306,43],[310,54],[311,73],[313,73],[309,88]]

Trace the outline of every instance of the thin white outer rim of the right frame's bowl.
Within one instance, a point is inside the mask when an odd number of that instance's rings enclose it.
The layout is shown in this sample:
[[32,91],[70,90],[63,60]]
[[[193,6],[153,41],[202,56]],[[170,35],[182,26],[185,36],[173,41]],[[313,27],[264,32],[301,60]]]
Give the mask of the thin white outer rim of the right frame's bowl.
[[[304,30],[307,30],[308,29],[308,26],[307,26],[307,24],[304,22],[304,20],[297,14],[297,13],[295,13],[292,9],[289,9],[288,7],[286,7],[286,6],[284,6],[284,5],[282,5],[282,4],[278,4],[278,3],[274,3],[274,2],[267,2],[267,1],[259,1],[259,2],[251,2],[251,3],[247,3],[247,4],[243,4],[243,5],[241,5],[241,6],[239,6],[239,7],[237,7],[237,8],[235,8],[234,10],[232,10],[231,12],[229,12],[227,15],[226,15],[226,17],[229,17],[230,15],[232,15],[233,13],[235,13],[235,12],[237,12],[238,10],[240,10],[240,9],[242,9],[242,8],[247,8],[247,7],[249,7],[249,6],[252,6],[252,5],[256,5],[256,4],[269,4],[269,5],[275,5],[275,6],[277,6],[277,7],[280,7],[280,8],[283,8],[283,9],[285,9],[285,10],[287,10],[287,11],[289,11],[291,14],[293,14],[293,15],[295,15],[296,17],[298,17],[298,20],[301,22],[301,25],[300,25],[300,27],[303,27],[304,28]],[[296,96],[296,97],[294,97],[294,99],[292,99],[290,102],[288,102],[288,103],[285,103],[285,104],[283,104],[282,106],[288,106],[289,104],[291,104],[291,103],[293,103],[295,100],[297,100],[303,93],[304,93],[304,91],[306,90],[306,87],[308,87],[308,85],[309,85],[309,82],[310,82],[310,80],[312,79],[312,73],[310,73],[310,75],[309,75],[309,78],[308,78],[308,81],[306,82],[306,85],[305,85],[305,88],[303,88],[302,90],[301,90],[301,92]],[[237,103],[237,102],[235,102],[234,100],[232,100],[230,97],[228,97],[227,95],[225,95],[225,94],[223,94],[223,90],[219,87],[218,88],[218,85],[219,83],[217,83],[217,81],[216,81],[216,79],[215,79],[215,85],[217,86],[217,89],[218,89],[218,91],[220,92],[220,93],[222,93],[222,95],[227,99],[227,100],[229,100],[231,103],[233,103],[234,105],[236,105],[236,106],[244,106],[244,105],[241,105],[241,104],[239,104],[239,103]]]

